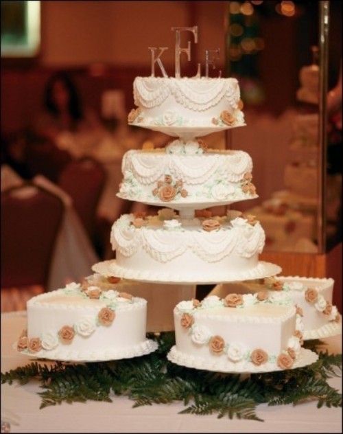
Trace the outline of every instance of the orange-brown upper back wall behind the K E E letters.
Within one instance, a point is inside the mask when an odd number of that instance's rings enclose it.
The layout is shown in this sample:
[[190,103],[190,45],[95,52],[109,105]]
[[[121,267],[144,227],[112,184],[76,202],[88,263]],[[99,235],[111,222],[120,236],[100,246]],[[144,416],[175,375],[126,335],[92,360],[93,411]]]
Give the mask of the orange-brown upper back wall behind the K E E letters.
[[[198,25],[201,53],[220,47],[224,61],[224,1],[43,1],[41,65],[150,65],[148,47],[169,47],[163,63],[174,67],[171,27]],[[192,47],[193,50],[193,47]],[[200,60],[198,60],[200,61]],[[171,69],[172,71],[172,69]]]

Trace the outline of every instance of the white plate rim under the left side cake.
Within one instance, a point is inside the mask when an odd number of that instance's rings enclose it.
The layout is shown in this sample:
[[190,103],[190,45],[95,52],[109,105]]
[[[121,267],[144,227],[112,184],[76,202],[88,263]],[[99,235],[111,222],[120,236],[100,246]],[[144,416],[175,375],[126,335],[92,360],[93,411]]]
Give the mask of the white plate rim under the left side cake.
[[[145,354],[150,354],[157,350],[158,344],[151,339],[146,339],[138,345],[132,345],[132,347],[115,349],[108,348],[103,352],[88,350],[88,351],[73,351],[69,348],[62,348],[62,350],[40,350],[36,353],[29,352],[28,350],[20,351],[20,354],[24,356],[34,357],[34,358],[47,358],[54,361],[62,362],[80,362],[80,363],[91,363],[91,362],[106,362],[111,360],[121,360],[123,358],[132,358],[145,356]],[[16,349],[16,342],[13,344],[13,349]]]

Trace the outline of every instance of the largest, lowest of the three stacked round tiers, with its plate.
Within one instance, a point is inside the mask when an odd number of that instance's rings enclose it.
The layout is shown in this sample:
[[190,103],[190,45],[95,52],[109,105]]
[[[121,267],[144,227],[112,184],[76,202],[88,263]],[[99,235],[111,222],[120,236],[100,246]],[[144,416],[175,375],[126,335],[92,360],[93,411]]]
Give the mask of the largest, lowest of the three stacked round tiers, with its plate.
[[180,218],[169,208],[154,216],[124,214],[112,227],[115,260],[99,262],[93,271],[148,282],[213,283],[255,279],[280,273],[259,262],[265,233],[254,216],[228,211]]

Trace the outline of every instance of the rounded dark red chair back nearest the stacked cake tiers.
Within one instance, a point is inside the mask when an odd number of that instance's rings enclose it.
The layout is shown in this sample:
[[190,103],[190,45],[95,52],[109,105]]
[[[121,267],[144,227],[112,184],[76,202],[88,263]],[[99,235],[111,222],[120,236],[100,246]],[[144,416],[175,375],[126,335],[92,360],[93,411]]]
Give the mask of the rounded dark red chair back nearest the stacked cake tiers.
[[95,235],[97,206],[106,183],[106,171],[99,161],[83,157],[71,161],[60,174],[58,185],[73,199],[84,229],[91,240]]

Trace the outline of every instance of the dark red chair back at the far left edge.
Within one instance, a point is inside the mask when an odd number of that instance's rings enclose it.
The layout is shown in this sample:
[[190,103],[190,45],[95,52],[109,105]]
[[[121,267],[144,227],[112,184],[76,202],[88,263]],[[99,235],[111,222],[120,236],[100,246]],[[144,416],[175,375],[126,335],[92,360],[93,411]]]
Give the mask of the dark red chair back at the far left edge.
[[32,183],[1,192],[1,288],[47,287],[63,216],[62,200]]

